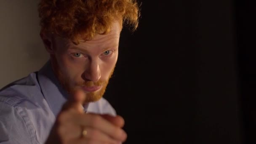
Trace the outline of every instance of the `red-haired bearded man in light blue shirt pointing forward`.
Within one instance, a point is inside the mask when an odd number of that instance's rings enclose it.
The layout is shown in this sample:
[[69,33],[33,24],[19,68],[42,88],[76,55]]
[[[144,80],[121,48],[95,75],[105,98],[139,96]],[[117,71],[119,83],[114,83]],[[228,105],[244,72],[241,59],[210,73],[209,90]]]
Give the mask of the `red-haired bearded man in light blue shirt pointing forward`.
[[41,0],[40,36],[50,60],[0,91],[1,144],[120,144],[124,120],[102,98],[123,24],[135,0]]

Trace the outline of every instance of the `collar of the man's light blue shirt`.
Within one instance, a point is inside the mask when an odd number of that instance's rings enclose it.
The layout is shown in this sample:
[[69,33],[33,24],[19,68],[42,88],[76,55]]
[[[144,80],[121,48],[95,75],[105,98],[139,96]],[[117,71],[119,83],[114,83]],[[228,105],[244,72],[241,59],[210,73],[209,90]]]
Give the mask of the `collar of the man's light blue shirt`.
[[[38,71],[38,82],[45,100],[49,104],[53,114],[57,116],[62,105],[67,101],[68,93],[61,87],[55,77],[50,60]],[[83,108],[86,112],[88,104]]]

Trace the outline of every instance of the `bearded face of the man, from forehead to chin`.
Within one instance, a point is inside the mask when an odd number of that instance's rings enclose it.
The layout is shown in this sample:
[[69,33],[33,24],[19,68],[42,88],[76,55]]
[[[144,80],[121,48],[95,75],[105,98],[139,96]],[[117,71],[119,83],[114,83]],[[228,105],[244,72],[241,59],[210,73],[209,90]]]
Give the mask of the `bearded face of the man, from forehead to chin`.
[[115,23],[109,34],[95,35],[78,45],[54,36],[53,70],[69,93],[83,90],[85,102],[98,101],[103,96],[117,62],[120,31],[120,24]]

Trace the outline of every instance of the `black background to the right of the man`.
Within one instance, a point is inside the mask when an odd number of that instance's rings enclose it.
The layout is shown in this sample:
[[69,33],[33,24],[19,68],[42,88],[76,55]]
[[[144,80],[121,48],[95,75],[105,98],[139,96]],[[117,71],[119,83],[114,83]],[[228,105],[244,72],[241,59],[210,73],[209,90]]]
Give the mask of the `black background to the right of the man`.
[[139,2],[104,96],[125,144],[255,144],[256,2]]

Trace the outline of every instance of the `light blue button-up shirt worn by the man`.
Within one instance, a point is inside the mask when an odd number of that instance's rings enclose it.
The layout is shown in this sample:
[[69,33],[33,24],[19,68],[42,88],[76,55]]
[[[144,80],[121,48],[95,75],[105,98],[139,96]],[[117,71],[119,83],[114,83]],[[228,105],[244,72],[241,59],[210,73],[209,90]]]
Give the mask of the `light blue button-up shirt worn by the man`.
[[[0,90],[0,144],[43,144],[56,116],[67,101],[48,61],[38,72]],[[101,98],[84,107],[87,112],[116,115]]]

